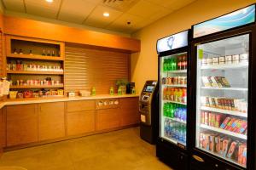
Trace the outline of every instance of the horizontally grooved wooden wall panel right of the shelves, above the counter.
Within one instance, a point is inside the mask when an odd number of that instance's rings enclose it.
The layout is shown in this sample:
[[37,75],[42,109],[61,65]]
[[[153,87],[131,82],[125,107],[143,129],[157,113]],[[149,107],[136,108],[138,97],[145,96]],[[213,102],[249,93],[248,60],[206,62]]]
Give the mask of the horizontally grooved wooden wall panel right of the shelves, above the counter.
[[96,87],[96,94],[109,94],[117,79],[129,79],[129,59],[130,54],[121,52],[66,47],[66,92]]

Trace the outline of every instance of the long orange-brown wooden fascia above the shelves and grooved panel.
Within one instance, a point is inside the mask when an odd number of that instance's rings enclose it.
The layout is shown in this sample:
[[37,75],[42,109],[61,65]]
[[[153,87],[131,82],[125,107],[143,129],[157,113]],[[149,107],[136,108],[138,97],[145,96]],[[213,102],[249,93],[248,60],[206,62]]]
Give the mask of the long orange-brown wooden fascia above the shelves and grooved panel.
[[35,37],[61,42],[121,49],[130,53],[140,51],[140,40],[85,29],[61,26],[37,20],[3,17],[4,33],[22,37]]

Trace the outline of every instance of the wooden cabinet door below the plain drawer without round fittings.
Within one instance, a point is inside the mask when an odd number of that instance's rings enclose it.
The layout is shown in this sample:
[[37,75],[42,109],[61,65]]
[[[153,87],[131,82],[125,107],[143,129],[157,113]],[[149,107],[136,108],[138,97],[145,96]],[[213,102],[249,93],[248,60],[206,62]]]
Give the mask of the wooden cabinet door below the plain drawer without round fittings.
[[67,112],[67,135],[95,131],[95,111]]

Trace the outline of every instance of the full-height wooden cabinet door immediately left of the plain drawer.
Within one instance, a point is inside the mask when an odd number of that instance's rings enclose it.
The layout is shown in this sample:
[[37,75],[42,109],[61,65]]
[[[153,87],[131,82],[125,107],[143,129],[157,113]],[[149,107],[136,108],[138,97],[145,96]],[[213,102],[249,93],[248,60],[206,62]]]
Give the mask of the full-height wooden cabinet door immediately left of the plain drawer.
[[65,136],[64,102],[39,104],[39,140],[57,139]]

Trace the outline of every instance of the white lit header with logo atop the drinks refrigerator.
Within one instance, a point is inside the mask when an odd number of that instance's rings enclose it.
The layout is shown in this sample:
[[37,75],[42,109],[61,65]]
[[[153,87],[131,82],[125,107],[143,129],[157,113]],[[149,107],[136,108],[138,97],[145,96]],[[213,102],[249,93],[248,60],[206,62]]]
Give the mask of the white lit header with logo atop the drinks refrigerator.
[[188,46],[189,31],[182,31],[169,37],[161,38],[157,41],[156,50],[160,54],[172,49]]

